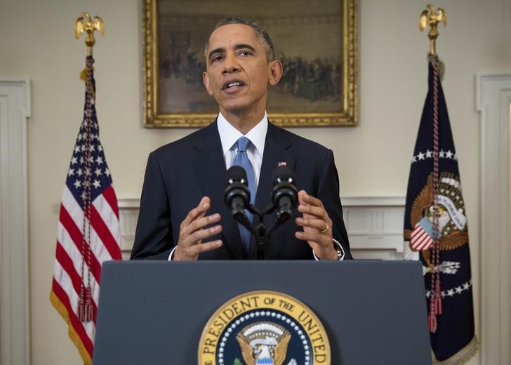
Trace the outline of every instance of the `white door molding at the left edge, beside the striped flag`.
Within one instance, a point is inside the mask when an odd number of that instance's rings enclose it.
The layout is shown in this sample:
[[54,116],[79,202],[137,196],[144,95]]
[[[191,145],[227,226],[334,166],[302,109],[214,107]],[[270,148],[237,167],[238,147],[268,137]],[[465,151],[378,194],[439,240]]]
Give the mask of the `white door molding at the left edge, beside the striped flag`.
[[0,363],[30,363],[27,118],[30,81],[0,79]]

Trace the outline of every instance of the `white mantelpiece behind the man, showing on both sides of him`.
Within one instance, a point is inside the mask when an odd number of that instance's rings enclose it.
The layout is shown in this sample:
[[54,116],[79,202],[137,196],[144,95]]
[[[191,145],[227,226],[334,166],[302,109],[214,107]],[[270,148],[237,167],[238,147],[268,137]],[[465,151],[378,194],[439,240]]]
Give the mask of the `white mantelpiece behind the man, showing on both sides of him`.
[[[343,214],[355,258],[403,258],[404,197],[343,197]],[[135,238],[139,199],[119,199],[121,250],[128,258]]]

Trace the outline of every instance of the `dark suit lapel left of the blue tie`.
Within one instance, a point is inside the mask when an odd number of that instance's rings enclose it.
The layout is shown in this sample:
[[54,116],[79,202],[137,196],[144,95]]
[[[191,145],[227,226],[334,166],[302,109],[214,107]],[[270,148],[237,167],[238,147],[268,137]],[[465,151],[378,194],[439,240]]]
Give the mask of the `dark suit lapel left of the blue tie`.
[[205,196],[211,198],[211,213],[220,213],[223,227],[222,235],[225,237],[224,244],[230,247],[234,258],[245,258],[244,249],[241,245],[237,223],[231,217],[229,208],[224,202],[225,192],[225,159],[222,152],[222,144],[216,121],[204,128],[201,138],[194,146],[199,152],[197,159],[192,161],[197,182]]

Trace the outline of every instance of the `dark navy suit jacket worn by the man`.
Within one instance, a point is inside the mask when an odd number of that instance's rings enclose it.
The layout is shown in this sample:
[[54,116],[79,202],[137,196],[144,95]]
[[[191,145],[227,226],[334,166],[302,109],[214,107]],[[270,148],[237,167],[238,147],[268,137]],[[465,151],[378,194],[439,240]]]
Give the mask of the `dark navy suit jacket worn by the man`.
[[[345,258],[352,258],[339,198],[339,179],[333,153],[316,142],[306,140],[268,124],[255,206],[264,208],[271,201],[272,171],[286,162],[296,173],[298,190],[305,190],[323,201],[333,221],[333,238],[342,244]],[[224,203],[225,159],[216,121],[185,138],[164,145],[149,155],[145,171],[140,213],[131,258],[168,259],[178,243],[180,223],[199,204],[202,197],[211,198],[207,214],[220,213],[223,232],[208,241],[221,239],[223,245],[201,253],[199,259],[243,260],[256,258],[255,239],[246,251],[239,237],[237,223]],[[298,212],[294,212],[298,216]],[[254,217],[254,220],[257,220]],[[275,215],[265,216],[265,225],[274,223]],[[257,223],[257,222],[255,222]],[[288,220],[273,232],[269,259],[313,259],[312,249],[296,239],[301,230]]]

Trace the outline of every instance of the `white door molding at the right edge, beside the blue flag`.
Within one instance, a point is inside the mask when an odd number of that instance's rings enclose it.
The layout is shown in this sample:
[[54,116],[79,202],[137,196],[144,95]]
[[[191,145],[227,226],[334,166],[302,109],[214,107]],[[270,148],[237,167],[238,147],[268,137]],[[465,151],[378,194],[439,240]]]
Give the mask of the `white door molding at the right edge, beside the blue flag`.
[[477,74],[481,112],[482,364],[511,364],[511,74]]

